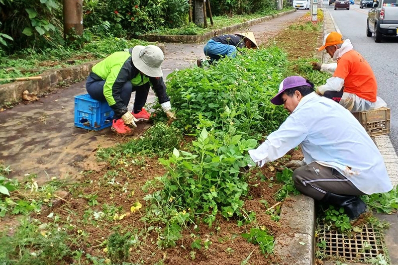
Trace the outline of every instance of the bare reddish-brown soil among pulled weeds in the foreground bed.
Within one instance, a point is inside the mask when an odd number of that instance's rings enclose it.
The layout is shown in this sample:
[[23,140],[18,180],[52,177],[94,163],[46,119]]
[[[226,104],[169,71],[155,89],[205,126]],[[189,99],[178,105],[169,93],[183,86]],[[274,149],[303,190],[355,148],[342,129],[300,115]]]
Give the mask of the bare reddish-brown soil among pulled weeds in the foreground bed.
[[[290,155],[299,157],[300,151],[291,151]],[[137,160],[144,161],[144,163],[142,165],[131,163],[116,168],[106,165],[91,174],[82,175],[79,180],[82,184],[70,188],[69,192],[63,195],[66,203],[59,207],[43,209],[39,215],[32,217],[38,218],[43,223],[51,222],[52,219],[47,217],[51,212],[54,215],[59,215],[60,220],[67,220],[69,217],[68,224],[75,227],[68,232],[71,237],[77,237],[79,230],[88,234],[87,237],[81,239],[83,241],[79,241],[79,246],[72,245],[71,248],[80,248],[95,257],[106,258],[106,253],[103,251],[106,246],[103,243],[115,231],[120,234],[134,230],[139,232],[148,229],[149,226],[158,227],[162,225],[140,220],[145,213],[144,208],[147,206],[146,201],[143,200],[147,192],[142,189],[142,186],[148,180],[163,176],[166,169],[158,162],[157,158],[139,158]],[[263,227],[274,237],[279,233],[292,234],[284,220],[272,221],[271,216],[265,213],[269,207],[277,203],[273,194],[281,187],[281,184],[275,182],[275,180],[268,179],[276,179],[275,174],[278,171],[278,165],[283,163],[284,160],[275,163],[276,170],[271,171],[266,167],[261,169],[261,173],[265,177],[263,179],[256,177],[259,172],[258,169],[253,170],[250,174],[250,197],[245,199],[244,208],[247,212],[256,212],[255,223],[238,227],[237,221],[233,218],[227,220],[222,216],[217,216],[212,227],[199,224],[198,229],[194,229],[190,226],[184,231],[183,238],[178,241],[177,247],[164,250],[157,247],[158,235],[152,230],[146,235],[138,236],[141,243],[130,249],[128,262],[155,264],[163,260],[165,264],[170,265],[236,265],[245,260],[250,253],[252,253],[249,259],[251,265],[277,262],[278,257],[270,255],[267,258],[260,252],[258,246],[248,243],[240,234],[246,233],[252,226]],[[116,175],[111,174],[116,171],[118,172]],[[114,176],[114,179],[110,176]],[[120,185],[109,184],[110,180],[114,183],[120,183]],[[270,183],[273,183],[273,185],[270,185]],[[122,191],[121,185],[126,188],[126,192]],[[89,199],[84,196],[91,194],[98,195],[98,205],[90,206],[88,204]],[[267,207],[261,200],[268,201]],[[131,213],[130,207],[137,201],[142,204],[142,209]],[[102,219],[93,222],[93,211],[104,211],[104,204],[114,205],[120,209],[119,215],[126,213],[126,216],[122,220]],[[212,242],[208,250],[204,248],[195,250],[195,259],[192,258],[191,244],[194,241],[192,233],[200,235],[200,239],[203,241],[209,240]]]

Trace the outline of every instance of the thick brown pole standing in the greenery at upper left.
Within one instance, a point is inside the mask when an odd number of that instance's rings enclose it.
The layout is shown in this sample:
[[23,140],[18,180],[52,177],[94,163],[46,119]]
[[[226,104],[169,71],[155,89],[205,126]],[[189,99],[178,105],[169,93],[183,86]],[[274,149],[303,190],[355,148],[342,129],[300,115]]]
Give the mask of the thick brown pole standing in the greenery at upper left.
[[83,0],[63,0],[64,39],[72,29],[74,33],[83,35]]

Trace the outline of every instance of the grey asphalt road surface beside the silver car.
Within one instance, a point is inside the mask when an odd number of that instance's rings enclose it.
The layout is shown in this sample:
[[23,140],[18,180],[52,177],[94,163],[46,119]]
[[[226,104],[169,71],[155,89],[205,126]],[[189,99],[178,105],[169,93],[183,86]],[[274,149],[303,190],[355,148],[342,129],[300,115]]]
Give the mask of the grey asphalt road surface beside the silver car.
[[382,43],[366,36],[366,19],[370,8],[360,9],[358,4],[350,10],[333,10],[328,1],[323,2],[328,8],[337,26],[345,38],[349,38],[354,49],[361,53],[375,72],[378,82],[378,95],[391,108],[391,141],[398,152],[398,37],[388,37]]

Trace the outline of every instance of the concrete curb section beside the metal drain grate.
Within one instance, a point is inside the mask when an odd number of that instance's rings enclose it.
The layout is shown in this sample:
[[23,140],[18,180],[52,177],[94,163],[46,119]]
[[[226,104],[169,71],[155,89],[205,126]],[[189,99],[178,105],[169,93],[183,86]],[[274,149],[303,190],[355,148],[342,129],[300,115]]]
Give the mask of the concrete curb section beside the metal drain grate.
[[275,240],[275,255],[282,259],[280,265],[313,265],[315,246],[315,204],[305,195],[285,201],[281,221],[291,228],[294,236],[281,234]]

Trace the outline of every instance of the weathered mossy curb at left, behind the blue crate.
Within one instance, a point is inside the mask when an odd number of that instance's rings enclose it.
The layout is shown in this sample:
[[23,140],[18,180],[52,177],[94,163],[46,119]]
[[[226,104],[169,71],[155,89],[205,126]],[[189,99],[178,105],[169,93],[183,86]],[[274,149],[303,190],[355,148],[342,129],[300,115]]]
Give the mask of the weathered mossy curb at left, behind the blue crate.
[[[165,53],[163,43],[156,44]],[[101,60],[90,61],[81,65],[66,68],[57,68],[44,71],[39,76],[42,80],[31,80],[13,82],[0,85],[0,106],[5,103],[17,103],[22,101],[22,92],[28,90],[29,93],[42,94],[57,88],[60,82],[75,82],[86,79],[91,69]]]

